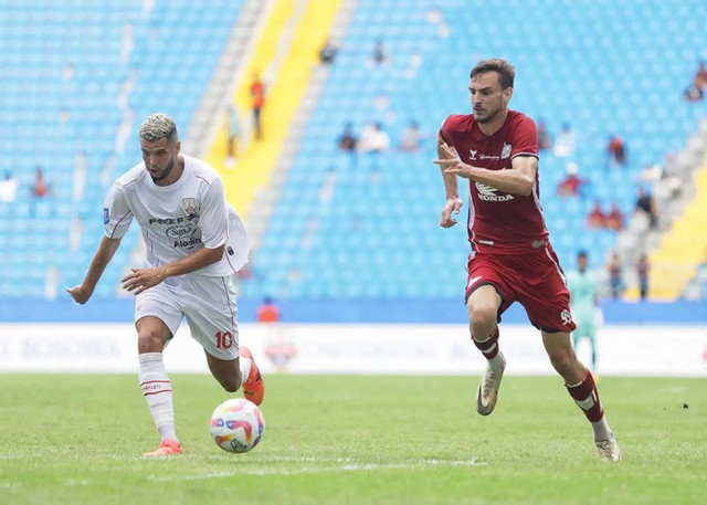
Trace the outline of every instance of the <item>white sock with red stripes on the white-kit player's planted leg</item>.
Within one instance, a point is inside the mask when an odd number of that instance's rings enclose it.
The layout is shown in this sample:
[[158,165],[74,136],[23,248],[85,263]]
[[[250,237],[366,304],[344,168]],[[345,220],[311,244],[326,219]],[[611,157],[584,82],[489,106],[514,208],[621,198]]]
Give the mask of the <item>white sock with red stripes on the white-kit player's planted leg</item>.
[[172,385],[167,377],[167,369],[161,353],[144,353],[139,355],[138,377],[140,389],[150,409],[157,431],[162,440],[176,440],[175,408],[172,406]]

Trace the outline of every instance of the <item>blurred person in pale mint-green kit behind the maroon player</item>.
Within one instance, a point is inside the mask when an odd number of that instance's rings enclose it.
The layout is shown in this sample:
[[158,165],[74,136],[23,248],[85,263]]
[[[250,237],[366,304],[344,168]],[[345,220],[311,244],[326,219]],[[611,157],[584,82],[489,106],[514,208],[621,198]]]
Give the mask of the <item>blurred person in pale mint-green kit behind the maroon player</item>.
[[572,319],[577,329],[572,332],[572,347],[582,338],[589,340],[592,349],[592,371],[597,371],[597,311],[599,296],[597,295],[597,278],[587,269],[589,261],[585,251],[577,254],[577,270],[567,274],[567,287],[570,292]]

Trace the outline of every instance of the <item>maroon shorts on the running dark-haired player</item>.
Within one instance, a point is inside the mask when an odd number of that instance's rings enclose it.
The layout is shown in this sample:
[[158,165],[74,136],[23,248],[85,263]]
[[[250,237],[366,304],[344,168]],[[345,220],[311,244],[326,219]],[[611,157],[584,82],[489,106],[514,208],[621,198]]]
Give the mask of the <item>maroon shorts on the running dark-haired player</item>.
[[577,327],[564,273],[550,245],[517,255],[472,253],[466,270],[465,301],[478,287],[494,286],[500,295],[499,323],[500,315],[519,302],[538,329],[570,333]]

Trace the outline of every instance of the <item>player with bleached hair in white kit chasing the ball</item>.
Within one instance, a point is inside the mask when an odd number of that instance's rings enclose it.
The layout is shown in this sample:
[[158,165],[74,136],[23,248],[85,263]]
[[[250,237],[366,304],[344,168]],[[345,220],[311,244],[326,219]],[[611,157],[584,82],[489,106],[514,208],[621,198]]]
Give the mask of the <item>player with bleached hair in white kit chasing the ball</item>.
[[250,350],[239,348],[231,276],[247,261],[247,241],[243,223],[225,201],[221,177],[208,164],[180,154],[169,116],[151,115],[139,136],[144,161],[110,188],[103,210],[105,235],[83,283],[66,291],[80,304],[88,301],[136,219],[146,265],[133,269],[123,287],[135,293],[140,389],[162,439],[146,455],[175,455],[182,448],[162,350],[184,316],[211,374],[226,391],[242,385],[245,398],[260,404],[264,385]]

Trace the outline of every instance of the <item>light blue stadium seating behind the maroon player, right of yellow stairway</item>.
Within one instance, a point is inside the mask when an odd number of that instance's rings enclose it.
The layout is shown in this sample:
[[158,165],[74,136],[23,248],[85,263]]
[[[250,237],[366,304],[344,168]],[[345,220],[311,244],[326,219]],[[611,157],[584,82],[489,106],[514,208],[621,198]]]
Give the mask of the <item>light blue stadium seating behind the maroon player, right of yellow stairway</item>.
[[[514,0],[503,9],[483,1],[415,0],[405,9],[392,0],[359,1],[244,294],[461,296],[468,248],[464,227],[437,225],[444,196],[431,164],[433,135],[447,114],[469,112],[468,71],[488,56],[516,65],[511,108],[544,118],[556,136],[571,124],[573,154],[541,157],[541,199],[566,269],[579,249],[591,251],[592,266],[602,265],[618,232],[584,228],[593,202],[615,202],[630,215],[640,171],[679,149],[705,115],[703,104],[685,103],[682,94],[700,57],[700,9],[699,1],[658,0]],[[387,64],[371,61],[379,39]],[[429,135],[419,155],[395,149],[411,119]],[[347,122],[359,135],[380,122],[391,150],[339,152]],[[624,139],[629,161],[611,169],[606,143],[614,134]],[[568,161],[589,180],[584,198],[555,193]]]

